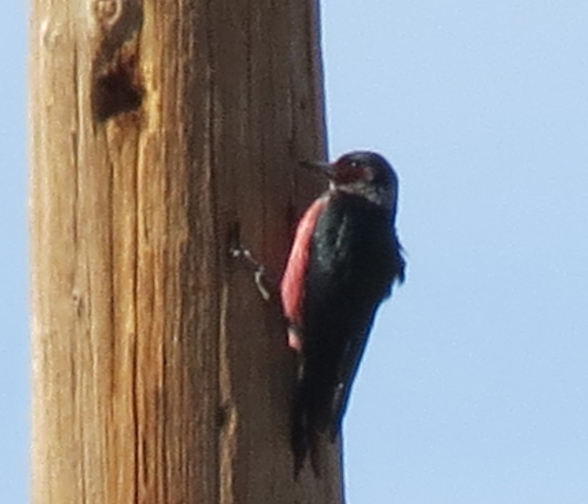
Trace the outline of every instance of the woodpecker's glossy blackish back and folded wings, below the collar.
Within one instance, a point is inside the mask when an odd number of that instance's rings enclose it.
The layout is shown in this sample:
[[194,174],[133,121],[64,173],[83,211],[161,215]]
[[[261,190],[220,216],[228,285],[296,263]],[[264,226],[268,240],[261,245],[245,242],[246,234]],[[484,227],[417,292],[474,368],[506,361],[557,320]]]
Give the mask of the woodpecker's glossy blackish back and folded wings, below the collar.
[[377,306],[402,275],[393,215],[333,193],[310,243],[303,303],[302,386],[318,430],[338,431]]

